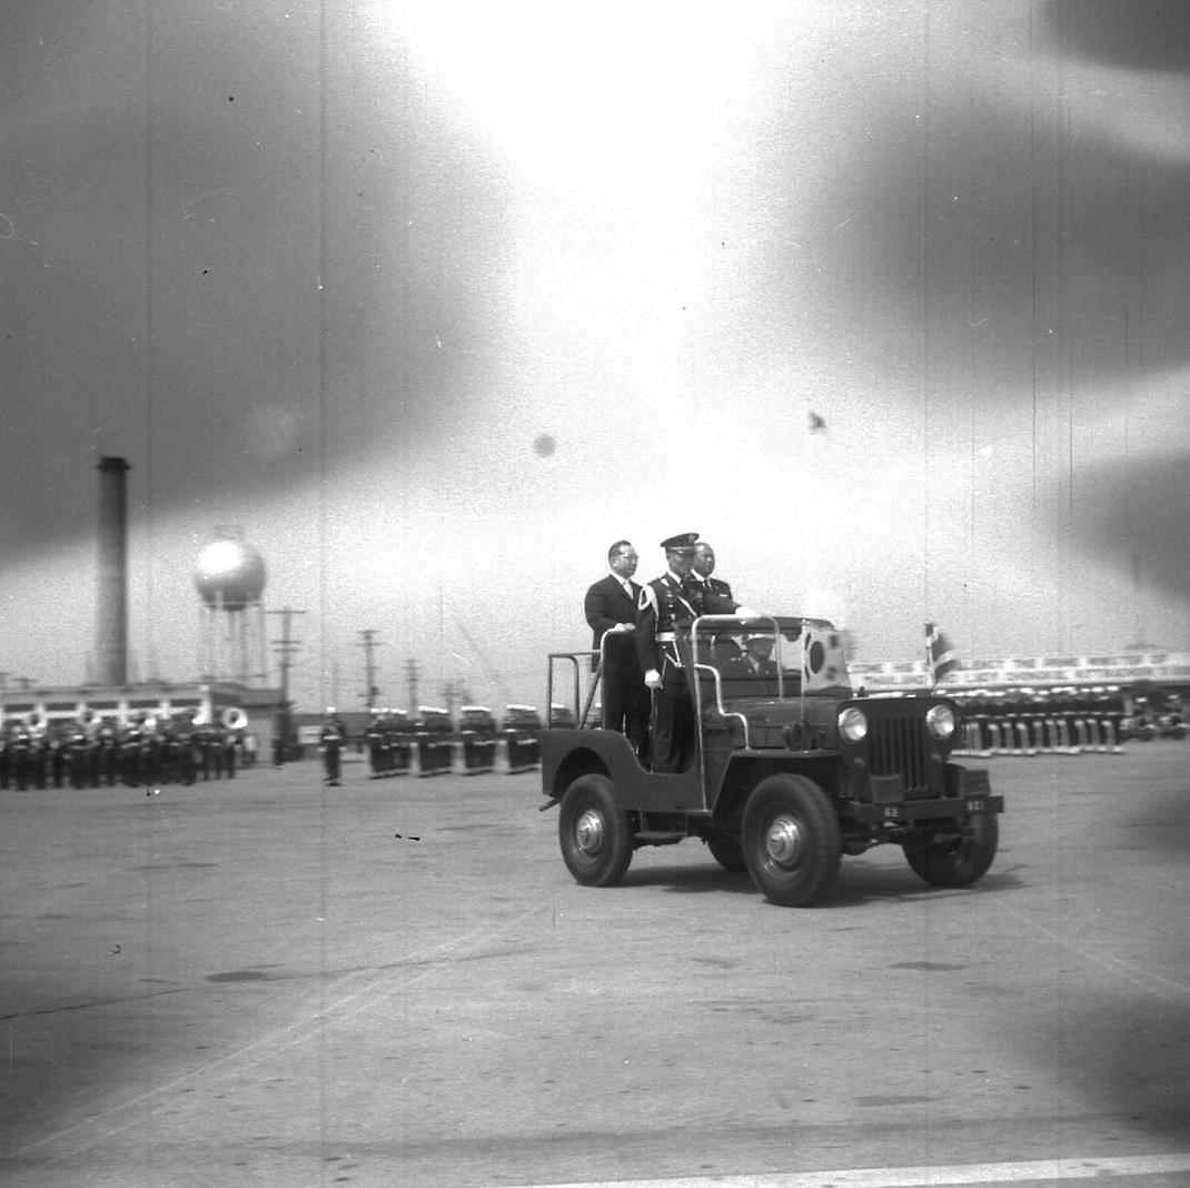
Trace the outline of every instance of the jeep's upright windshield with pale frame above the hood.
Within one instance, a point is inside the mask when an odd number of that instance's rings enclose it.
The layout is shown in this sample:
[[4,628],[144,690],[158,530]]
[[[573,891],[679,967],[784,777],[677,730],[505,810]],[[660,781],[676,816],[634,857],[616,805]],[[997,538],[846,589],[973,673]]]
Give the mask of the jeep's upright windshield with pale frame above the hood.
[[690,648],[700,679],[725,702],[851,693],[843,633],[826,619],[703,615]]

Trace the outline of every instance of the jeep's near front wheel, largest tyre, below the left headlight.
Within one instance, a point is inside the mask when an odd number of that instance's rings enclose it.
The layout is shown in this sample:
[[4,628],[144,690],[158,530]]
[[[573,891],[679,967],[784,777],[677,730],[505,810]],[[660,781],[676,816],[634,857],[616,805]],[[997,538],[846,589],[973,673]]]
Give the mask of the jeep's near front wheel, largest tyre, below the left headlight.
[[839,819],[813,780],[771,775],[744,806],[743,850],[749,874],[769,902],[808,907],[839,873]]

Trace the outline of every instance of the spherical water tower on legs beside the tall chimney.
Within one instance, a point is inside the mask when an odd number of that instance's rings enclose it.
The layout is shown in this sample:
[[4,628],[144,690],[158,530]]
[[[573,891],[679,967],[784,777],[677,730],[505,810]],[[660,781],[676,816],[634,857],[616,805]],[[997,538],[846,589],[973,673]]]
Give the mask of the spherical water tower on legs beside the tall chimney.
[[244,539],[244,530],[215,529],[194,568],[202,599],[199,668],[205,681],[265,683],[264,582],[264,558]]

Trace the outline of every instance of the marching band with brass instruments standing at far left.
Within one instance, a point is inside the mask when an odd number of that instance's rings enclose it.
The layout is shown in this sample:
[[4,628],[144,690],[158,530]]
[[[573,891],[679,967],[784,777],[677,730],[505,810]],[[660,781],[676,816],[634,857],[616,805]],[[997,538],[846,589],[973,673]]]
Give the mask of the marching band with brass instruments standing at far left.
[[43,723],[36,715],[0,727],[0,788],[138,788],[232,779],[244,762],[244,732],[198,725],[194,714],[127,725],[102,718]]

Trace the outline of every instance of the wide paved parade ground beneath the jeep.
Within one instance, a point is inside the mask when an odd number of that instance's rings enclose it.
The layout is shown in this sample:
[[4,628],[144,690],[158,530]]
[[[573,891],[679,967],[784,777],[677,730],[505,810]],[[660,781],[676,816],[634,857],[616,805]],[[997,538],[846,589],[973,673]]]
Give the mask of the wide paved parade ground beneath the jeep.
[[5,790],[0,1181],[1188,1184],[1188,759],[967,759],[981,884],[812,909],[580,887],[536,773]]

